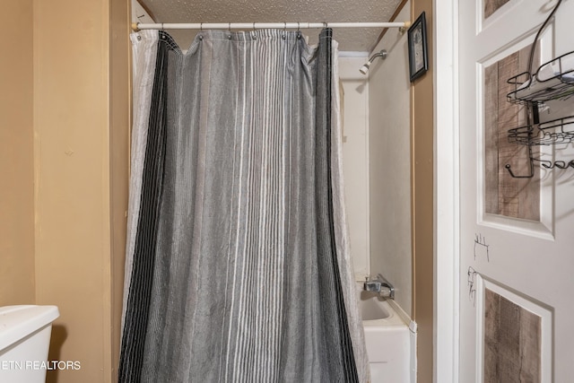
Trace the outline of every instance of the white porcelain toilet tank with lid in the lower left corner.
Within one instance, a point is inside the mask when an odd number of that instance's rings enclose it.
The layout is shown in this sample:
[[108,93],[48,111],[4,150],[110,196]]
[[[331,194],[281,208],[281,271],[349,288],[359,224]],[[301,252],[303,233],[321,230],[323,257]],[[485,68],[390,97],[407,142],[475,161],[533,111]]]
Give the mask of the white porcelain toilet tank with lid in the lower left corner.
[[0,382],[46,381],[52,322],[56,306],[0,308]]

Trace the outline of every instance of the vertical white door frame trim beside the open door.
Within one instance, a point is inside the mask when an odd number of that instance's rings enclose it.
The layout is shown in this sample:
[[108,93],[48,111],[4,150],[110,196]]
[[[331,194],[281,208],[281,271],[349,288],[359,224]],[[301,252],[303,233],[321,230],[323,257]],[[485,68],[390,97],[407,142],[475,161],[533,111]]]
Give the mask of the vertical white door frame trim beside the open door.
[[458,2],[434,0],[434,376],[458,382]]

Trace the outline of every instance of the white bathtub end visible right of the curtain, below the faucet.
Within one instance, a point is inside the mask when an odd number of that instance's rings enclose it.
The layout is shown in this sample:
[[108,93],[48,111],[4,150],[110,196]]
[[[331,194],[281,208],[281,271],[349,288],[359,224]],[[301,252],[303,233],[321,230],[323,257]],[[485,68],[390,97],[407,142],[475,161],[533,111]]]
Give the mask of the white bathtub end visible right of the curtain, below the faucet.
[[358,290],[370,383],[414,382],[415,325],[394,301],[379,298],[376,292],[363,292],[362,283]]

